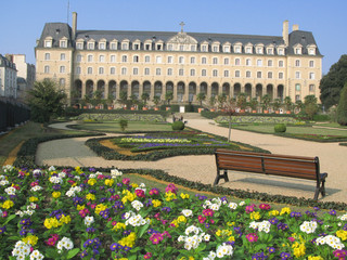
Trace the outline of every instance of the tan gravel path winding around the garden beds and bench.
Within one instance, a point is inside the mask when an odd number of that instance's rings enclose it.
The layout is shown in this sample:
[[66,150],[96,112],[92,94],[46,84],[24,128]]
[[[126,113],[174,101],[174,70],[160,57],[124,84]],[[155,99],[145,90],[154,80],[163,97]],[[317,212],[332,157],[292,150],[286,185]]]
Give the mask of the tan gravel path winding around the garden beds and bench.
[[[65,128],[66,123],[52,125]],[[228,136],[228,129],[208,119],[188,119],[188,126],[205,132]],[[108,134],[117,135],[117,134]],[[36,154],[36,162],[47,166],[117,167],[119,169],[162,169],[171,176],[213,184],[216,177],[216,161],[213,155],[177,156],[158,161],[105,160],[97,157],[85,142],[90,138],[55,140],[41,143]],[[326,196],[322,202],[347,202],[347,147],[338,143],[317,143],[270,134],[232,130],[231,140],[247,143],[273,154],[318,156],[321,172],[327,172]],[[220,181],[221,186],[247,191],[265,192],[312,198],[316,182],[281,177],[269,177],[245,172],[229,172],[230,182]]]

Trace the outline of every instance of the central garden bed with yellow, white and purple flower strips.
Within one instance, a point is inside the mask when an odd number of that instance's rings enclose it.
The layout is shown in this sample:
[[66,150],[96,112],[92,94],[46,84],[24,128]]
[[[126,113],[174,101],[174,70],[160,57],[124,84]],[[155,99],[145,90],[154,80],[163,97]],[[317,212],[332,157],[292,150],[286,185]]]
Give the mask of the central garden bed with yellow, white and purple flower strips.
[[[113,145],[106,145],[105,141],[110,141]],[[98,138],[88,140],[86,145],[98,156],[110,160],[158,160],[172,156],[214,154],[218,147],[269,153],[195,130],[152,132],[112,139]]]

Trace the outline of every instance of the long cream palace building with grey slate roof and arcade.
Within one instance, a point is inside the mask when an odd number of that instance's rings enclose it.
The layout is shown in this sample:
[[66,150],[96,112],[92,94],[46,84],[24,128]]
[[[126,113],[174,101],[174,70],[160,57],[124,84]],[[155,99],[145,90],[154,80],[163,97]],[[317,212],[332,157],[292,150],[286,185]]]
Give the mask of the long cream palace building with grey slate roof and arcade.
[[213,32],[78,30],[47,23],[35,48],[36,79],[54,79],[73,104],[99,90],[103,99],[167,92],[171,103],[197,103],[210,96],[245,93],[273,100],[319,96],[322,55],[311,31],[284,21],[282,36]]

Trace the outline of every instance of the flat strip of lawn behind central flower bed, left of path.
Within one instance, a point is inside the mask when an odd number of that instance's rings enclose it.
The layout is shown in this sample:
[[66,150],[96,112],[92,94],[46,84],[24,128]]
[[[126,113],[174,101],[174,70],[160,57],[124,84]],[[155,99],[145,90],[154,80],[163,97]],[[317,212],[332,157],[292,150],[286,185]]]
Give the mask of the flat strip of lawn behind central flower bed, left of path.
[[[99,131],[99,132],[123,132],[118,121],[102,121],[102,122],[81,122],[74,126],[75,129]],[[127,132],[149,132],[149,131],[171,131],[170,123],[163,122],[145,122],[145,121],[128,121]]]

